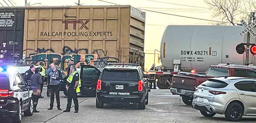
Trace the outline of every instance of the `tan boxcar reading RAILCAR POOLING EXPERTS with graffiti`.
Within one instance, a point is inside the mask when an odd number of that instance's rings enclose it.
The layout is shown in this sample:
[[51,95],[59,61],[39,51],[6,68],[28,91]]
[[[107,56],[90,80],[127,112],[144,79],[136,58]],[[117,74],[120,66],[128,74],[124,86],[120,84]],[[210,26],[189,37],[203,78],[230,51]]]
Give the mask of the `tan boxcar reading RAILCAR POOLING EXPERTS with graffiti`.
[[[125,6],[25,8],[26,61],[103,67],[106,62],[144,67],[145,12]],[[65,64],[65,65],[64,65]]]

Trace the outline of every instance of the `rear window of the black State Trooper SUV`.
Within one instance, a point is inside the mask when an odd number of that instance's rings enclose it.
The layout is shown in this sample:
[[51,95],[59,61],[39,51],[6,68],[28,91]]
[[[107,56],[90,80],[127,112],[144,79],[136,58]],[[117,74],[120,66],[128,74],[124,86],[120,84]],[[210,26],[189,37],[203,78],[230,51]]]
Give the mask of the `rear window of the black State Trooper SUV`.
[[134,70],[104,69],[101,79],[102,80],[138,81],[138,71],[136,69]]

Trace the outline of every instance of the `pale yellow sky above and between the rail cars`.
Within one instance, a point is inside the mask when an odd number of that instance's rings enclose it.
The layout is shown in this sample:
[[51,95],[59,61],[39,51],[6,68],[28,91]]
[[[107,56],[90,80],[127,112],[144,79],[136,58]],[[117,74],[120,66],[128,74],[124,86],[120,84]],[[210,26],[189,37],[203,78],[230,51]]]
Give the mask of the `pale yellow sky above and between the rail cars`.
[[[5,0],[8,1],[8,0]],[[11,1],[11,0],[10,0]],[[25,0],[12,0],[14,1],[17,6],[24,6]],[[207,4],[204,0],[104,0],[111,3],[116,3],[120,5],[131,5],[133,7],[159,11],[174,15],[181,15],[181,16],[188,16],[188,17],[195,17],[195,18],[202,18],[202,19],[212,19],[212,10],[209,10]],[[158,1],[158,2],[154,2]],[[4,2],[0,0],[2,4]],[[27,0],[30,2],[30,5],[35,3],[41,3],[41,5],[37,4],[34,6],[66,6],[76,5],[78,0]],[[166,3],[160,3],[166,2]],[[168,4],[172,3],[172,4]],[[98,0],[80,0],[80,4],[83,5],[112,5],[109,3],[101,2]],[[175,5],[181,4],[181,5]],[[188,6],[196,6],[196,7],[188,7]],[[200,8],[202,7],[202,8]],[[163,9],[165,8],[165,9]],[[142,10],[144,11],[144,10]],[[160,43],[163,32],[167,25],[209,25],[209,21],[205,20],[197,20],[197,19],[190,19],[190,18],[183,18],[171,15],[165,15],[161,13],[155,13],[150,11],[146,12],[146,26],[145,26],[145,70],[149,69],[152,64],[154,63],[154,50],[160,50]],[[156,57],[157,58],[157,57]],[[157,63],[157,61],[156,61]],[[156,64],[160,65],[160,64]]]

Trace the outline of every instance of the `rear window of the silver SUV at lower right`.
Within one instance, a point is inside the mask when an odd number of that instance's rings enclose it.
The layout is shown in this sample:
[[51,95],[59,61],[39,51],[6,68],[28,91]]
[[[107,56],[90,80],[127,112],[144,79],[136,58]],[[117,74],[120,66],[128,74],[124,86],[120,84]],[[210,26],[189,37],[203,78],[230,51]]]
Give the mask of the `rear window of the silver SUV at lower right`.
[[225,88],[228,86],[224,81],[216,79],[208,79],[207,81],[201,84],[202,86],[211,87],[211,88]]

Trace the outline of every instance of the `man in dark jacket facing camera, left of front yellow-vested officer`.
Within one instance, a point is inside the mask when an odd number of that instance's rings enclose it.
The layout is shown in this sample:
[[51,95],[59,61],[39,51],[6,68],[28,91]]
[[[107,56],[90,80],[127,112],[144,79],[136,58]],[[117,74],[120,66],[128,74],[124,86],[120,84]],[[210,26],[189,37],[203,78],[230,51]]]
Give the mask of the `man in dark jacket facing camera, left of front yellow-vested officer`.
[[52,110],[53,108],[54,95],[56,95],[57,108],[58,110],[61,110],[60,108],[60,80],[61,79],[62,79],[61,72],[56,69],[55,63],[51,63],[51,72],[47,77],[47,81],[50,87],[50,94],[51,94],[50,108],[48,108],[48,110]]

